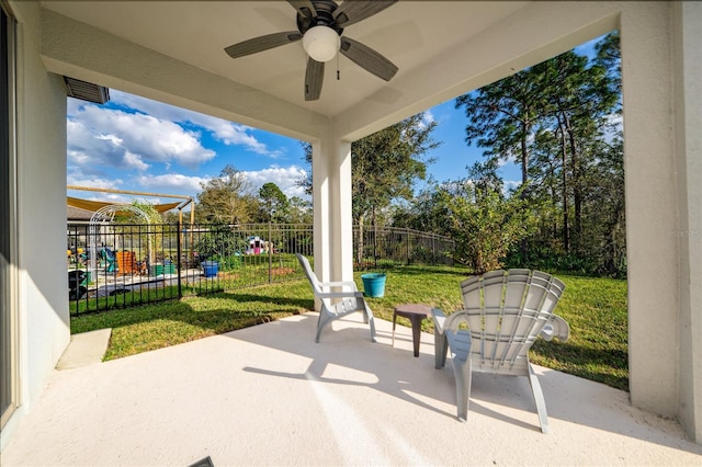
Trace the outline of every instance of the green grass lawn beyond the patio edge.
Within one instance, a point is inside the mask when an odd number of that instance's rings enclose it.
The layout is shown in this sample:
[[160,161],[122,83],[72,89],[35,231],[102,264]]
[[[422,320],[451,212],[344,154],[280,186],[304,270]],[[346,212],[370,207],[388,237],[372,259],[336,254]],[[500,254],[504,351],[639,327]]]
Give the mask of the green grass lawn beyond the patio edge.
[[[403,303],[446,312],[461,308],[458,283],[466,277],[462,269],[403,266],[385,272],[385,296],[367,299],[376,318],[392,320],[393,308]],[[361,274],[355,274],[360,288]],[[626,281],[556,275],[566,283],[556,314],[570,324],[570,340],[536,341],[532,362],[627,390]],[[297,280],[71,317],[71,332],[112,328],[105,354],[112,360],[296,315],[312,310],[313,304],[309,284]],[[404,318],[398,322],[409,326]],[[422,330],[433,331],[430,320]]]

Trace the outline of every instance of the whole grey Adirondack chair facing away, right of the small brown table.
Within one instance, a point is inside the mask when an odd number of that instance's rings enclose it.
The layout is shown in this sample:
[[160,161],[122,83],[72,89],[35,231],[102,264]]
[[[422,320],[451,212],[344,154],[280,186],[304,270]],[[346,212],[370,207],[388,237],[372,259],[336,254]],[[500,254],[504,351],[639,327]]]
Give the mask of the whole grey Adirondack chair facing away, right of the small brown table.
[[526,376],[541,431],[548,432],[546,405],[529,363],[529,349],[540,335],[547,341],[568,339],[568,323],[553,314],[564,288],[558,278],[540,271],[492,271],[461,283],[465,309],[448,317],[432,309],[435,366],[445,365],[451,349],[458,420],[467,417],[472,371]]

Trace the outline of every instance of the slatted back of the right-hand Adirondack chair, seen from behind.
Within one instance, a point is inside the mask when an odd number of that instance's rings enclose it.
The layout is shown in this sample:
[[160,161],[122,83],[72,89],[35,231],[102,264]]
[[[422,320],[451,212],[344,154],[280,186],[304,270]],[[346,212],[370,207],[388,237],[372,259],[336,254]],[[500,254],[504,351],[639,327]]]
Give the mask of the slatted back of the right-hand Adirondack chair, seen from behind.
[[563,294],[562,281],[540,271],[512,269],[461,283],[473,346],[473,368],[523,373],[529,349]]

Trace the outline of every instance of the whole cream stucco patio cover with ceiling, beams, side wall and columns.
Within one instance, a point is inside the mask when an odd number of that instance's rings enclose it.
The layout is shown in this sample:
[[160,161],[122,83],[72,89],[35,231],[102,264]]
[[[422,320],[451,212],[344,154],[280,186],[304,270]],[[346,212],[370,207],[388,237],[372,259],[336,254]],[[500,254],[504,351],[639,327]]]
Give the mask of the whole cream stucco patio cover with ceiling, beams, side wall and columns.
[[315,270],[343,281],[352,277],[352,141],[618,29],[631,400],[702,443],[702,3],[399,1],[344,29],[397,75],[386,82],[340,57],[316,101],[304,99],[301,44],[236,59],[224,52],[295,31],[291,3],[301,2],[2,2],[12,34],[3,59],[14,72],[3,153],[16,168],[4,189],[16,203],[3,226],[14,285],[2,312],[22,324],[8,331],[11,374],[21,377],[2,407],[2,442],[69,341],[58,271],[64,77],[312,143]]

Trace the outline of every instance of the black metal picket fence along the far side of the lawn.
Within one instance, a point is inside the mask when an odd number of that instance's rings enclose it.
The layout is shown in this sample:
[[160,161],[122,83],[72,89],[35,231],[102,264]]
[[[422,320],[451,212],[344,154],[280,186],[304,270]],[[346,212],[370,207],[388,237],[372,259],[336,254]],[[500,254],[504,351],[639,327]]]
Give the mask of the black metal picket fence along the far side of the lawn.
[[[72,315],[304,277],[313,226],[69,224]],[[451,264],[453,240],[410,229],[354,228],[354,267]]]

